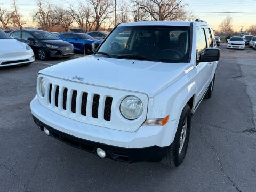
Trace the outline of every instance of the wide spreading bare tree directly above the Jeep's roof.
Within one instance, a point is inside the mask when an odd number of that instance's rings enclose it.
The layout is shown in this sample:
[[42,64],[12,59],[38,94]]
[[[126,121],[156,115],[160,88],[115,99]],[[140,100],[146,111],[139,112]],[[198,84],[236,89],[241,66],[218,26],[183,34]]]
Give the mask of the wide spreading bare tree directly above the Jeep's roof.
[[184,14],[186,4],[182,0],[135,0],[135,6],[153,20],[178,20]]

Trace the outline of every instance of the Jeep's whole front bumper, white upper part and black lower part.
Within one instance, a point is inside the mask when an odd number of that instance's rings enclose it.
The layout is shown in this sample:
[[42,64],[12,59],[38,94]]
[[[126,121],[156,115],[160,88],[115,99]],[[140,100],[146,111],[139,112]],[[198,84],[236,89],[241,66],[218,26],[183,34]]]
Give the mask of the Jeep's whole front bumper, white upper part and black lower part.
[[[135,132],[108,129],[61,116],[42,106],[37,96],[30,103],[35,122],[50,134],[75,147],[95,152],[101,148],[111,159],[126,162],[161,161],[172,141],[175,121],[164,126],[141,126]],[[166,131],[170,131],[170,134]]]

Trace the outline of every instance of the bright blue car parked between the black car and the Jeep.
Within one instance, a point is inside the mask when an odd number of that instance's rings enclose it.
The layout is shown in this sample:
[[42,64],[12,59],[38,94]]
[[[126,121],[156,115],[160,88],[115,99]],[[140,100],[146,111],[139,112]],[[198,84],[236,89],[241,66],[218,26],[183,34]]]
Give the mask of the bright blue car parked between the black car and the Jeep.
[[61,40],[72,43],[77,52],[92,53],[92,43],[101,43],[102,40],[94,39],[92,36],[84,33],[62,33],[57,35]]

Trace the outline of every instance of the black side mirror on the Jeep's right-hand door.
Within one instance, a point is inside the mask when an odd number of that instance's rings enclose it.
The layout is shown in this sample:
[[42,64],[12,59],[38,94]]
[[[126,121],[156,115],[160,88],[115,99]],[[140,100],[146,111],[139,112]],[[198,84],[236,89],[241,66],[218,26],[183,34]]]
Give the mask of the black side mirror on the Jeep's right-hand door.
[[219,61],[219,59],[220,59],[220,49],[207,48],[200,55],[199,62],[213,62],[213,61]]

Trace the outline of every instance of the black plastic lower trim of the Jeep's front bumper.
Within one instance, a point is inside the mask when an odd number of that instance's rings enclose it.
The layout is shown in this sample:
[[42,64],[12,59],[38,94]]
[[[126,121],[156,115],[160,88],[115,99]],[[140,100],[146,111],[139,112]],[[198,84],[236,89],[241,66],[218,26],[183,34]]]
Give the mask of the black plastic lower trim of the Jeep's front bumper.
[[123,147],[106,145],[103,143],[81,139],[73,135],[63,133],[39,121],[39,119],[37,119],[35,116],[33,116],[33,118],[35,123],[40,127],[41,130],[43,130],[43,127],[46,127],[49,130],[50,135],[55,139],[58,139],[76,148],[89,151],[90,153],[95,153],[96,148],[101,148],[106,152],[107,158],[110,158],[116,161],[129,162],[129,163],[141,162],[141,161],[159,162],[163,159],[163,157],[167,153],[167,149],[169,148],[169,146],[166,146],[166,147],[151,146],[151,147],[145,147],[145,148],[123,148]]

